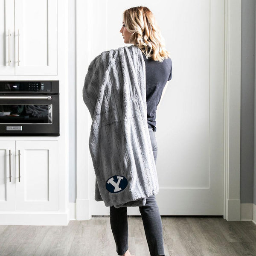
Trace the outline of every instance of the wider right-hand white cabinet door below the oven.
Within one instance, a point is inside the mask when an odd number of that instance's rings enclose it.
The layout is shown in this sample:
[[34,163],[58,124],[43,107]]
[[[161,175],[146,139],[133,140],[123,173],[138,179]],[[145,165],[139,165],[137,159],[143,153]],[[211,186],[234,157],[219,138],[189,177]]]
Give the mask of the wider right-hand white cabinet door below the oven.
[[15,143],[16,209],[58,210],[58,141]]

